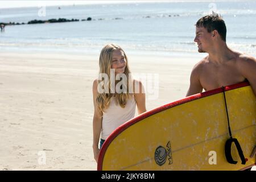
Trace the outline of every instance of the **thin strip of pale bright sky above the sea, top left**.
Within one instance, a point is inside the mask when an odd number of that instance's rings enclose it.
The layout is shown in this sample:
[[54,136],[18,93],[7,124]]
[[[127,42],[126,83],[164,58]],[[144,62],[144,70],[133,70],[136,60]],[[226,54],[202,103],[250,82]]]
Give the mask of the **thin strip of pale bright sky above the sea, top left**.
[[0,0],[0,9],[10,7],[38,7],[38,6],[61,6],[61,5],[86,5],[97,3],[135,3],[135,2],[154,2],[154,1],[2,1]]

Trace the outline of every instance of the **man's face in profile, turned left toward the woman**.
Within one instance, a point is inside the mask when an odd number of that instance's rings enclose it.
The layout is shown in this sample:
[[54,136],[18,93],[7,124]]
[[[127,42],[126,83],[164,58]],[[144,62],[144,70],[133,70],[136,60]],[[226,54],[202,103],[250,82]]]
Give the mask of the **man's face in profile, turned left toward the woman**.
[[212,42],[212,34],[204,27],[196,27],[196,37],[194,42],[197,43],[198,52],[208,52]]

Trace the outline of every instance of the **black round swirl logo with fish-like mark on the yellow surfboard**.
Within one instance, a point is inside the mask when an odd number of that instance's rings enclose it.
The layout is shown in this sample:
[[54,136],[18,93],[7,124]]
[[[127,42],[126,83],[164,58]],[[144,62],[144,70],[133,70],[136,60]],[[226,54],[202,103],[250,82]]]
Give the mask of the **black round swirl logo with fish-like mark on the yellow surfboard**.
[[172,164],[172,152],[171,152],[171,142],[168,141],[166,148],[163,146],[158,146],[155,150],[155,162],[159,166],[166,163],[168,157],[169,165]]

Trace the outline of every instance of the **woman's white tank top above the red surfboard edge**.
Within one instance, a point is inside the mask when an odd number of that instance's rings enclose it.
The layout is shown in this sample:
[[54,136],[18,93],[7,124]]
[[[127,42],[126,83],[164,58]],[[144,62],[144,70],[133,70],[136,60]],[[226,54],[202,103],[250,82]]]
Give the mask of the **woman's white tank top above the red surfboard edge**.
[[115,98],[112,97],[108,109],[103,113],[101,138],[105,140],[118,126],[134,118],[135,107],[134,96],[127,100],[124,108],[116,105]]

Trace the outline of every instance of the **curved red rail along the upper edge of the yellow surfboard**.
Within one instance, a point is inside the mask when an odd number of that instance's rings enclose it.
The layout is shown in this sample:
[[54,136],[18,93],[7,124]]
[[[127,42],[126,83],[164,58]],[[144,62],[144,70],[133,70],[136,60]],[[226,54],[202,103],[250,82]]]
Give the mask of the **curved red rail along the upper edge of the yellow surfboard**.
[[[233,90],[233,89],[237,89],[237,88],[241,88],[243,86],[249,86],[249,85],[250,85],[249,82],[244,81],[244,82],[240,82],[238,84],[225,86],[224,89],[225,89],[225,91],[228,91],[228,90]],[[104,158],[106,149],[108,148],[109,144],[114,140],[115,137],[117,137],[120,133],[122,133],[122,131],[127,129],[129,126],[134,125],[134,123],[137,123],[144,118],[150,117],[150,115],[159,113],[160,111],[164,111],[166,109],[170,109],[171,107],[175,107],[177,105],[181,105],[181,104],[184,104],[184,103],[187,103],[187,102],[190,102],[193,100],[197,100],[197,99],[200,99],[203,97],[212,96],[213,94],[217,94],[217,93],[221,93],[221,92],[223,92],[222,88],[217,88],[217,89],[209,90],[207,92],[197,93],[195,95],[185,97],[181,100],[177,100],[177,101],[171,102],[169,104],[156,107],[155,109],[146,111],[145,113],[142,113],[142,114],[138,115],[137,117],[130,119],[129,121],[123,123],[123,125],[119,126],[117,129],[115,129],[113,131],[112,134],[109,135],[109,137],[105,140],[104,144],[102,145],[101,150],[100,150],[100,155],[98,158],[97,170],[102,171],[103,158]]]

